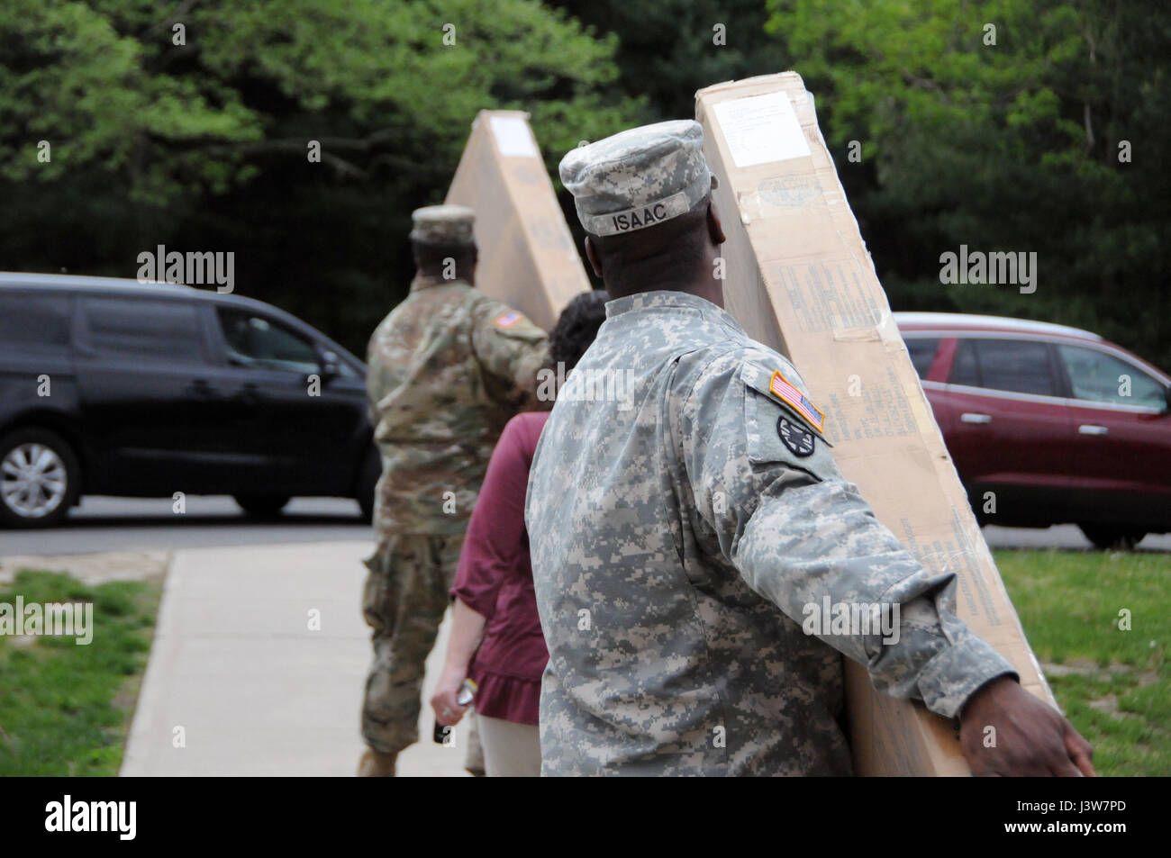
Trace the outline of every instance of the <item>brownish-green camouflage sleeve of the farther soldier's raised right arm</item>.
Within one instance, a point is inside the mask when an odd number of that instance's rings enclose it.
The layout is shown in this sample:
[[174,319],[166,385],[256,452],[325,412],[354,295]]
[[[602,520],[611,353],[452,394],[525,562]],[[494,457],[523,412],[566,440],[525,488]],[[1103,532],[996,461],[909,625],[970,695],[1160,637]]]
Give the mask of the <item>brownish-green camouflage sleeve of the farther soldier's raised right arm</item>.
[[535,406],[536,373],[548,348],[548,335],[508,304],[486,297],[472,310],[472,352],[484,372],[497,382],[488,385],[494,398]]

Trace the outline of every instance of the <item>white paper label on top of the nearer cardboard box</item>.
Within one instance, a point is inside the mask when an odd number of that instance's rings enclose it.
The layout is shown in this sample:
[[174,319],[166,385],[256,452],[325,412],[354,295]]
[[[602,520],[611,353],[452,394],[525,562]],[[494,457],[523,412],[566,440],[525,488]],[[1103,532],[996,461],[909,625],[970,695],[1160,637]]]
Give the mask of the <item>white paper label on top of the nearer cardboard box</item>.
[[733,98],[713,111],[738,167],[809,157],[809,144],[785,92]]

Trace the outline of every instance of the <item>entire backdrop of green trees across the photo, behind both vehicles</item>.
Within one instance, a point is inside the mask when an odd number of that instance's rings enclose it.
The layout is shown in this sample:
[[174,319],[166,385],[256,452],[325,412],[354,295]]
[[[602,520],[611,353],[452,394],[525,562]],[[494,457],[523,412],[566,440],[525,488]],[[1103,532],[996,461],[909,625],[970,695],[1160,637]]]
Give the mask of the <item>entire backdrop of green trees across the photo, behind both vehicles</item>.
[[[555,177],[795,68],[896,309],[1078,324],[1171,369],[1169,46],[1144,0],[8,0],[0,267],[234,250],[241,291],[361,351],[478,110],[528,110]],[[1036,291],[941,284],[960,245],[1036,252]]]

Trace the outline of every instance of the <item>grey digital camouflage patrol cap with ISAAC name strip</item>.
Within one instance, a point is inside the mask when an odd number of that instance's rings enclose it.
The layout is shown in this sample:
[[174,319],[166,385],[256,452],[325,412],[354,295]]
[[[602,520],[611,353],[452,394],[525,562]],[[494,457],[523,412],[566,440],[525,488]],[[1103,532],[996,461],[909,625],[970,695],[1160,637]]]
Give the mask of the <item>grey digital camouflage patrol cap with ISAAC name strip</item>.
[[578,146],[561,159],[561,181],[594,235],[618,235],[689,212],[715,187],[693,119],[659,122]]

